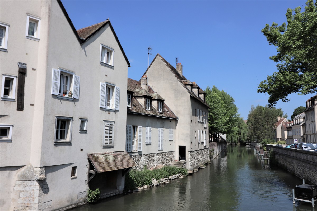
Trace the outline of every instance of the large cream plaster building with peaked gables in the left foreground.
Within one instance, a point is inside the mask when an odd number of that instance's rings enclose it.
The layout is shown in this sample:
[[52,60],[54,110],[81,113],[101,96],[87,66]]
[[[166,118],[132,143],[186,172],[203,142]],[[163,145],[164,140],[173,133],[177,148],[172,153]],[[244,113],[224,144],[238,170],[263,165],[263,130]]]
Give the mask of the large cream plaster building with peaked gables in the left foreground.
[[110,21],[76,31],[60,1],[2,1],[0,33],[0,209],[70,208],[96,184],[122,193],[130,64]]

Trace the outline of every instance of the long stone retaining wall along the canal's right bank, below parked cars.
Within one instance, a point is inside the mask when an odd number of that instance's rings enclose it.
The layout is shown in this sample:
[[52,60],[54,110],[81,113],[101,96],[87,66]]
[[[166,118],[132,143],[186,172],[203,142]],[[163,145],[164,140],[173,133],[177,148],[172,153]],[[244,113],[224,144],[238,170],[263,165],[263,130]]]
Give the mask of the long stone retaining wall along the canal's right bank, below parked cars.
[[305,183],[317,185],[317,153],[307,150],[266,145],[273,159],[279,166],[296,177],[305,179]]

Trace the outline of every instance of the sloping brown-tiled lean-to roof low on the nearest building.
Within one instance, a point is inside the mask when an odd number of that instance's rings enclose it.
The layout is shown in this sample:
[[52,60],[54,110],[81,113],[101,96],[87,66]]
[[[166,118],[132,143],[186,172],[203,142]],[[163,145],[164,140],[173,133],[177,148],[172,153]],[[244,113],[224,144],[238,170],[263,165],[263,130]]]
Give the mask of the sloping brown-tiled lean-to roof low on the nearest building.
[[136,166],[133,159],[125,151],[89,153],[88,158],[97,173],[110,172]]

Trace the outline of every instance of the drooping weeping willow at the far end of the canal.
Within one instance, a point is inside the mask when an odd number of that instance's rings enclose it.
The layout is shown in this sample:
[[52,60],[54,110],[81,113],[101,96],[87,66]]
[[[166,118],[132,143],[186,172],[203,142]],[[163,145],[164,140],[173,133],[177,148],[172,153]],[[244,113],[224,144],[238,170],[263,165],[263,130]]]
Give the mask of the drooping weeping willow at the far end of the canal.
[[239,118],[235,122],[232,130],[232,133],[227,134],[227,141],[230,144],[245,143],[248,141],[248,126],[243,121],[243,118]]

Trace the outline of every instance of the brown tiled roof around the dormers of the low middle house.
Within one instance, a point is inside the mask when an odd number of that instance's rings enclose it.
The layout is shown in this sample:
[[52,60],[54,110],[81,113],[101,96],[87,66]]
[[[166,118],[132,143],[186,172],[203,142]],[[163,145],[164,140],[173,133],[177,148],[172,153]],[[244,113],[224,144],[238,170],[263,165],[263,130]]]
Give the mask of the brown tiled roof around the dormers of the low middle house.
[[[164,101],[164,99],[158,94],[153,91],[153,89],[149,87],[149,91],[146,93],[150,94],[152,96],[152,99],[160,99]],[[162,118],[171,118],[171,119],[178,119],[177,116],[171,111],[171,109],[163,102],[163,108],[162,108],[162,113],[158,112],[156,110],[156,106],[152,104],[152,109],[151,111],[147,111],[137,99],[135,99],[135,93],[137,93],[138,90],[141,90],[140,82],[133,80],[131,78],[128,78],[128,89],[131,89],[133,93],[133,98],[132,98],[132,108],[127,107],[126,112],[127,113],[134,113],[134,114],[142,114],[142,115],[148,115],[148,116],[153,116],[153,117],[162,117]],[[141,95],[137,95],[141,96]],[[142,95],[143,96],[143,95]]]

